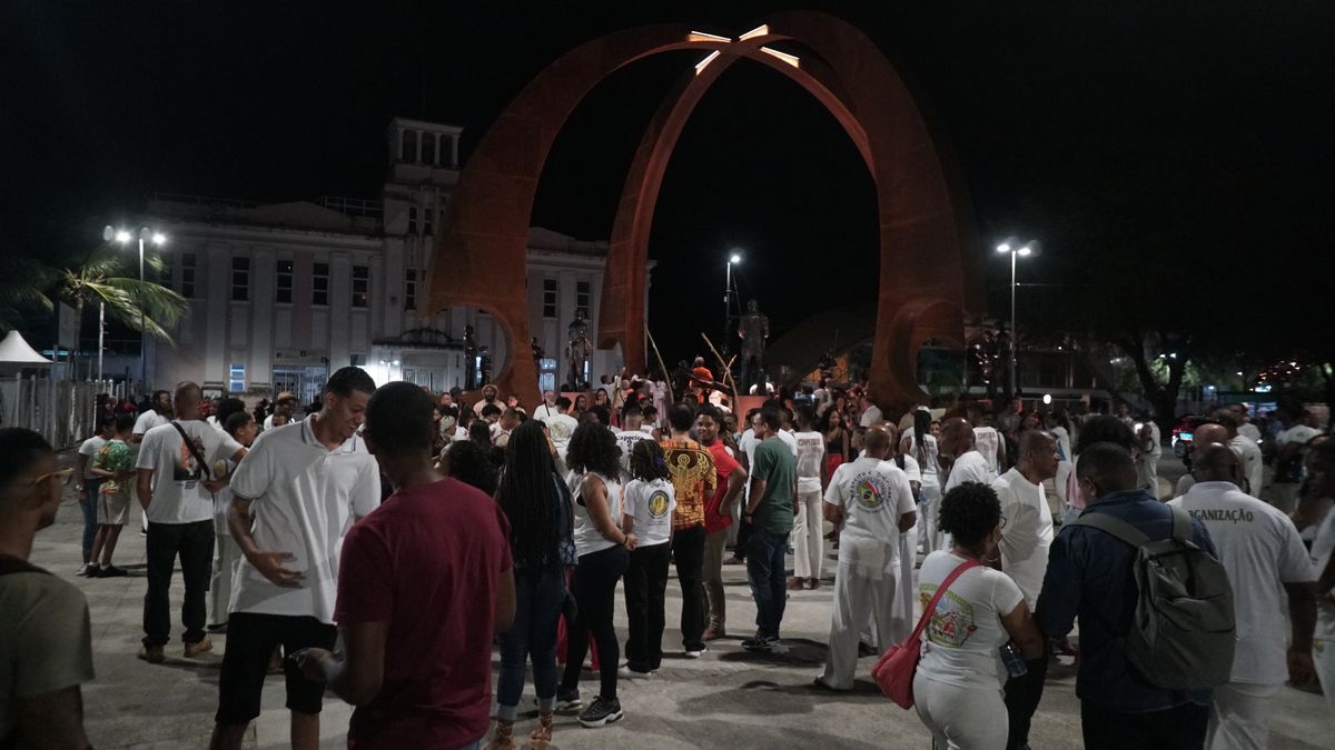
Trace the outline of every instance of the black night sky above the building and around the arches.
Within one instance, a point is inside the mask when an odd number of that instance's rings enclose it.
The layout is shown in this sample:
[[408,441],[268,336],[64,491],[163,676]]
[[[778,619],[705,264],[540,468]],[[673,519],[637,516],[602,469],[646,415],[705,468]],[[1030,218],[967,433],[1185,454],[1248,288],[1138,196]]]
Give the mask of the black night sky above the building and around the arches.
[[[1160,226],[1189,230],[1173,242],[1206,279],[1258,254],[1299,270],[1331,246],[1324,1],[363,5],[5,3],[0,251],[85,251],[154,191],[374,198],[395,115],[463,125],[466,159],[509,99],[579,43],[659,21],[737,35],[782,8],[862,28],[948,135],[995,312],[1007,279],[989,248],[1012,234],[1044,243],[1021,276],[1033,282],[1100,252],[1075,246],[1073,224],[1124,236],[1107,247],[1147,275],[1165,248],[1137,238]],[[605,239],[643,125],[696,61],[661,56],[597,88],[555,144],[533,223]],[[722,327],[733,247],[742,295],[780,331],[870,300],[872,190],[833,117],[786,79],[736,64],[693,115],[658,203],[650,327],[665,356]]]

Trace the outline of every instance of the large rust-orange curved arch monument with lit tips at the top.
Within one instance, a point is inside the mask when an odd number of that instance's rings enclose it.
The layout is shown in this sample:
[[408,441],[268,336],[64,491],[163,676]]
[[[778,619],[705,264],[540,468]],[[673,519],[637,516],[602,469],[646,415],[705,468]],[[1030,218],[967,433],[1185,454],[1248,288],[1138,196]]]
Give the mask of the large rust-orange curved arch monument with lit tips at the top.
[[[797,65],[765,49],[788,40],[806,48]],[[967,290],[976,288],[957,220],[967,206],[952,191],[947,163],[889,60],[854,27],[824,13],[780,13],[737,41],[696,36],[684,25],[641,27],[586,43],[549,65],[491,125],[465,167],[450,228],[438,239],[429,271],[426,310],[479,307],[511,343],[529,340],[527,227],[551,144],[579,100],[609,73],[674,49],[718,55],[669,93],[641,140],[613,227],[599,346],[619,343],[627,367],[643,370],[643,270],[662,176],[696,104],[729,64],[746,57],[812,93],[862,155],[876,183],[881,239],[872,394],[890,410],[920,400],[917,348],[929,338],[963,340],[964,310],[973,296]],[[534,363],[513,356],[515,346],[510,350],[498,386],[533,403]]]

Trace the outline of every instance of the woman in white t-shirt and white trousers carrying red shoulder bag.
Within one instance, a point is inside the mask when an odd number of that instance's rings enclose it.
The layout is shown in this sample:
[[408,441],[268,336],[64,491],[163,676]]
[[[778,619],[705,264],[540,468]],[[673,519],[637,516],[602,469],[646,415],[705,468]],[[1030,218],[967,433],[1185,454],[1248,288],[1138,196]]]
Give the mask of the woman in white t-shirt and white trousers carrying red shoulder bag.
[[1001,503],[992,487],[964,483],[952,488],[941,500],[941,527],[953,543],[949,551],[922,560],[922,605],[956,567],[979,565],[951,585],[922,631],[914,707],[937,747],[1000,750],[1007,745],[1001,695],[1007,670],[999,649],[1015,641],[1023,658],[1036,659],[1043,655],[1043,637],[1020,587],[988,567],[1000,554],[1001,539]]

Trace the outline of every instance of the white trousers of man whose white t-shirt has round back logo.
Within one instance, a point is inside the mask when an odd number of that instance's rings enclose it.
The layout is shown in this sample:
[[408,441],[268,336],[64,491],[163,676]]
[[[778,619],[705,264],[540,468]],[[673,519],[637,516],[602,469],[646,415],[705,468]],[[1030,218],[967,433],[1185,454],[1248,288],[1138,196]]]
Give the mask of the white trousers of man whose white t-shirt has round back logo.
[[[890,633],[894,618],[894,589],[900,571],[889,567],[880,581],[840,563],[834,574],[834,611],[830,618],[830,646],[821,679],[836,690],[852,690],[857,673],[857,641],[868,617],[877,633]],[[884,638],[882,638],[884,641]],[[884,650],[885,643],[881,643]]]

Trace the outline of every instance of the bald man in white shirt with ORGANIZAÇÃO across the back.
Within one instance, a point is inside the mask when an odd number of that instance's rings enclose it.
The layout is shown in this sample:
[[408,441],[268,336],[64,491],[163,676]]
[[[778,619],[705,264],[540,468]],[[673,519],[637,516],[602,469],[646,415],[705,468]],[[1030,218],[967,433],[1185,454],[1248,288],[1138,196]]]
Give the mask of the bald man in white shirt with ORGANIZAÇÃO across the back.
[[[1238,647],[1227,685],[1215,689],[1206,747],[1266,747],[1271,698],[1290,679],[1311,681],[1316,570],[1294,523],[1239,488],[1243,462],[1228,446],[1195,451],[1196,484],[1168,504],[1206,524],[1234,587]],[[1292,641],[1284,654],[1280,589],[1288,593]]]

